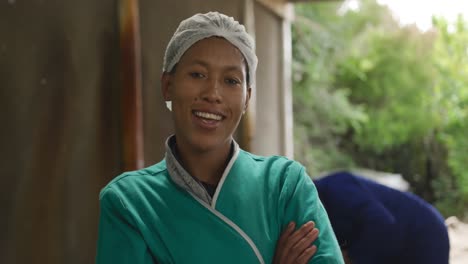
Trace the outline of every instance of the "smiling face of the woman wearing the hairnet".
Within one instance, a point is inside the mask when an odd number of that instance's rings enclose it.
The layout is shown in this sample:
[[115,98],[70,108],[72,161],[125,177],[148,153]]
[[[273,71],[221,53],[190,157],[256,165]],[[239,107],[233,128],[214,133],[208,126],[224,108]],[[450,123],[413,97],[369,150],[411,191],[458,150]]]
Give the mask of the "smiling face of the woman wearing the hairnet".
[[210,37],[190,47],[175,72],[163,74],[178,147],[209,151],[230,146],[250,98],[246,72],[244,57],[234,45]]

